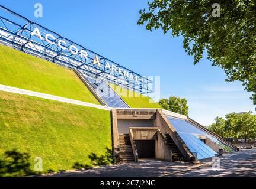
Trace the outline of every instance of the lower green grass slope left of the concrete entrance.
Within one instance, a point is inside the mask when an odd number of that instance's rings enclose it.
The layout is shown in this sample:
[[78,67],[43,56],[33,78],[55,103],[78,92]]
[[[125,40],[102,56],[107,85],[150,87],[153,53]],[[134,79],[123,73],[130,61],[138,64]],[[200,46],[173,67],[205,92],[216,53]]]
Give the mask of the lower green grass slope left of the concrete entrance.
[[[14,149],[28,153],[31,170],[34,158],[41,157],[42,172],[51,172],[71,170],[76,163],[93,165],[88,156],[95,153],[97,161],[106,147],[111,149],[110,112],[0,92],[0,177],[9,176],[4,172],[11,157],[20,158],[9,164],[12,169],[26,163],[21,155],[5,155]],[[27,174],[21,171],[11,176]]]

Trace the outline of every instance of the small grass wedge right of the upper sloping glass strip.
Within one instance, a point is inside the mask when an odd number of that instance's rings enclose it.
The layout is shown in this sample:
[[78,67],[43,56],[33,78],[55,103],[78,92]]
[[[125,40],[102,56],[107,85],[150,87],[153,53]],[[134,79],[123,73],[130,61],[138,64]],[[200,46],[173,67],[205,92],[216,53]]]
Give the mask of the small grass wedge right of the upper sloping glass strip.
[[154,102],[151,97],[143,96],[137,92],[127,90],[109,83],[112,89],[132,108],[162,108],[158,103]]

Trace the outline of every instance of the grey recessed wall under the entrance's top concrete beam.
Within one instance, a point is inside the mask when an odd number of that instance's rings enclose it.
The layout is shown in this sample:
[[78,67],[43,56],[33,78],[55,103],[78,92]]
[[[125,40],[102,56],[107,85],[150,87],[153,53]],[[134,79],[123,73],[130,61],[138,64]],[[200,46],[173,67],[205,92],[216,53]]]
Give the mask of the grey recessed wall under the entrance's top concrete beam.
[[153,119],[117,119],[117,128],[120,134],[128,134],[129,126],[133,127],[153,127]]

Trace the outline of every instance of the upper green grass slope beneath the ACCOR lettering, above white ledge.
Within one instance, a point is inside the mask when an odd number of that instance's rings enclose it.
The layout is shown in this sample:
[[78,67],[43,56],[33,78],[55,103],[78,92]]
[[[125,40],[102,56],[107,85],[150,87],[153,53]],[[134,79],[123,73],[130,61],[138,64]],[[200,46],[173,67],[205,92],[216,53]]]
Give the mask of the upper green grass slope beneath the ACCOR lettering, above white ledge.
[[100,104],[72,70],[4,45],[0,84]]

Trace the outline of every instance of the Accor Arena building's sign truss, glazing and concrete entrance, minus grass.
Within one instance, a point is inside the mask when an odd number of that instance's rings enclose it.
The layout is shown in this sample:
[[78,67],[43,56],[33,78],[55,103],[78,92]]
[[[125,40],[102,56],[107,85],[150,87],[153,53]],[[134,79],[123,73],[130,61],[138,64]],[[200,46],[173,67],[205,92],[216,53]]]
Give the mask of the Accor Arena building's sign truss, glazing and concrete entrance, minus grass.
[[148,94],[153,92],[152,80],[4,6],[0,8],[1,44],[75,70],[101,105],[110,107],[115,162],[137,162],[140,158],[197,161],[237,151],[187,116],[164,109],[130,108],[110,83]]

